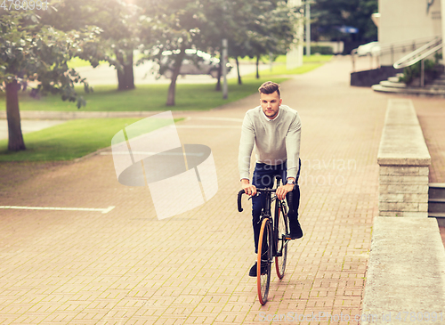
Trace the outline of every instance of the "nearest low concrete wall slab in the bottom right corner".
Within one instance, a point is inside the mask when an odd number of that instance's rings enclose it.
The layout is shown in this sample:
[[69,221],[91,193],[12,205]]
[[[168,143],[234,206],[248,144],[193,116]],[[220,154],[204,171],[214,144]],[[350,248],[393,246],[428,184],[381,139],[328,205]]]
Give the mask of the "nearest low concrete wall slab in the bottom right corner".
[[[360,324],[443,325],[443,270],[445,251],[434,218],[377,216],[361,305],[365,317]],[[414,314],[418,316],[410,318]]]

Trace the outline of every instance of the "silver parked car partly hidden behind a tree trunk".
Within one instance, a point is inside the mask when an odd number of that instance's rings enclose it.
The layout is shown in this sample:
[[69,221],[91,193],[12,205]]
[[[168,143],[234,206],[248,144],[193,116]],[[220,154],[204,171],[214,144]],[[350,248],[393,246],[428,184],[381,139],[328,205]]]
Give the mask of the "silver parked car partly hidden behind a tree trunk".
[[[163,76],[171,78],[173,75],[173,61],[169,62],[169,56],[173,53],[171,51],[165,51],[163,55],[163,64],[168,64],[168,67],[164,70]],[[212,77],[218,77],[218,65],[220,60],[214,58],[212,55],[197,51],[197,50],[185,50],[185,57],[182,61],[179,74],[184,75],[210,75]],[[230,72],[233,68],[231,63],[226,63],[227,72]]]

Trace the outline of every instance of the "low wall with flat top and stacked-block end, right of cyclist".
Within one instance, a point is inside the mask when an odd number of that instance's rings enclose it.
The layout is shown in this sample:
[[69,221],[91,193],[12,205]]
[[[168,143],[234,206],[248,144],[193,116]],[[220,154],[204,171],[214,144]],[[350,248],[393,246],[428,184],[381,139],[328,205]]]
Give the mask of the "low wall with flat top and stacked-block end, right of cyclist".
[[410,100],[388,101],[377,163],[379,215],[427,217],[431,157]]

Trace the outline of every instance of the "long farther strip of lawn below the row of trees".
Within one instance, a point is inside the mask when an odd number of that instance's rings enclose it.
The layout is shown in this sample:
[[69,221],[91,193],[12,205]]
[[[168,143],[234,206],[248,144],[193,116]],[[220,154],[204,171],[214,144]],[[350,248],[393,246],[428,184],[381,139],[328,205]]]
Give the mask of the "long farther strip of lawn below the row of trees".
[[[274,81],[279,83],[285,79],[276,77]],[[83,87],[77,89],[86,100],[86,106],[80,109],[85,111],[211,110],[257,92],[259,85],[267,80],[266,77],[244,77],[243,85],[230,80],[227,100],[223,100],[221,92],[214,91],[214,84],[176,85],[175,106],[166,106],[168,85],[136,85],[134,90],[120,92],[116,85],[96,86],[93,93],[84,93]],[[59,95],[36,100],[28,95],[28,91],[20,92],[19,102],[20,110],[77,110],[76,103],[63,102]],[[0,110],[5,110],[4,93],[0,93]]]

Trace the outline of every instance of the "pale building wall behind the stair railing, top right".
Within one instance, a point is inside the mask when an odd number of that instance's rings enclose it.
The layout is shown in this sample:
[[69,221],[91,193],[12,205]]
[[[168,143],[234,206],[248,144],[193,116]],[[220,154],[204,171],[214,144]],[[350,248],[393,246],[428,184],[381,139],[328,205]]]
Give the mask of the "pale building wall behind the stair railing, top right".
[[[425,0],[379,0],[378,41],[382,45],[390,45],[440,36],[442,29],[445,30],[441,20],[441,3],[445,3],[445,0],[433,0],[433,4],[427,10],[428,1]],[[394,61],[409,52],[394,53]],[[392,63],[391,54],[382,55],[381,65],[392,65]]]

